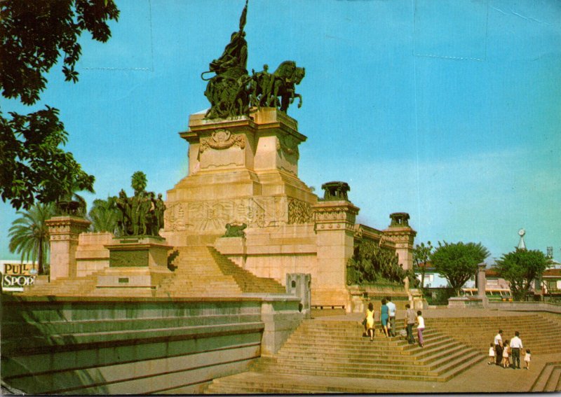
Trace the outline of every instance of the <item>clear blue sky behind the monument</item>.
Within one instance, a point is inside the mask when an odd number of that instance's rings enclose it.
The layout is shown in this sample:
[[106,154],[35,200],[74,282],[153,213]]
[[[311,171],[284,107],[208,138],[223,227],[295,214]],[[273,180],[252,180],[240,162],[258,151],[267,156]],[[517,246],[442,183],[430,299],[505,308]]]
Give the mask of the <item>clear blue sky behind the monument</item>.
[[[165,193],[187,174],[189,114],[208,107],[201,72],[238,29],[243,0],[121,0],[108,43],[83,35],[80,80],[48,75],[67,150],[95,197],[142,170]],[[306,68],[299,177],[346,181],[358,221],[410,213],[417,240],[481,242],[499,258],[525,228],[561,257],[561,2],[250,0],[248,69]],[[0,99],[4,112],[29,112]],[[36,107],[36,106],[35,106]],[[321,194],[321,193],[320,193]],[[0,204],[0,258],[15,218]]]

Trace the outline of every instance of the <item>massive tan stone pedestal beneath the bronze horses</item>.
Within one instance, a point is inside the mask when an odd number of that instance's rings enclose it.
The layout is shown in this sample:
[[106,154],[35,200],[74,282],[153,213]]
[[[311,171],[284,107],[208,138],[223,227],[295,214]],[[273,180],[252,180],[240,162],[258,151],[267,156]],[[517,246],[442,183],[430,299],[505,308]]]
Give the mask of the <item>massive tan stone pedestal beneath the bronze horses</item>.
[[168,190],[162,235],[185,246],[189,235],[224,233],[227,223],[265,228],[311,222],[317,196],[298,179],[296,120],[272,108],[205,120],[191,115],[189,175]]

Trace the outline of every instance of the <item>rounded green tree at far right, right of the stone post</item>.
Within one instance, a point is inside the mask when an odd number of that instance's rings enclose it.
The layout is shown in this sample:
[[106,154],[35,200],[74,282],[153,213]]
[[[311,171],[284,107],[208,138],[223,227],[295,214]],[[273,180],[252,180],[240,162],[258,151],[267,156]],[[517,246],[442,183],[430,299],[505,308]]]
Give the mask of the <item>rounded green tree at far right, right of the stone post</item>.
[[517,248],[497,260],[494,268],[499,276],[511,283],[513,299],[526,300],[532,280],[540,277],[549,263],[541,251]]

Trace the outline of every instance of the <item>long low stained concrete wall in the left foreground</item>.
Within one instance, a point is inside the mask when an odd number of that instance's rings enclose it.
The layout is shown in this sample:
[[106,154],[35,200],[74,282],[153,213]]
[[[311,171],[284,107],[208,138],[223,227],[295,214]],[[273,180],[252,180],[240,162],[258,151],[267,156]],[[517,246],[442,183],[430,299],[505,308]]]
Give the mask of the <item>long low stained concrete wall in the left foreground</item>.
[[2,298],[2,379],[32,394],[200,393],[302,319],[297,298]]

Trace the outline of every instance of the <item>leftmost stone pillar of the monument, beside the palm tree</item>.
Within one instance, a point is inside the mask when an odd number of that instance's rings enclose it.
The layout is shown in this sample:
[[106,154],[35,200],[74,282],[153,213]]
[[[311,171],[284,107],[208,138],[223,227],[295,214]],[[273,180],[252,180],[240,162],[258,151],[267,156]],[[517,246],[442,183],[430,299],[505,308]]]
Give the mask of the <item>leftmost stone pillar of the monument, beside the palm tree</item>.
[[46,221],[50,235],[50,280],[76,277],[78,235],[91,222],[77,216],[55,216]]

